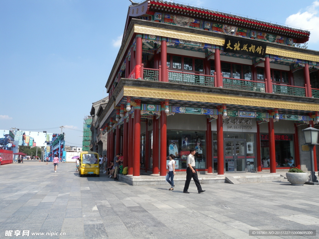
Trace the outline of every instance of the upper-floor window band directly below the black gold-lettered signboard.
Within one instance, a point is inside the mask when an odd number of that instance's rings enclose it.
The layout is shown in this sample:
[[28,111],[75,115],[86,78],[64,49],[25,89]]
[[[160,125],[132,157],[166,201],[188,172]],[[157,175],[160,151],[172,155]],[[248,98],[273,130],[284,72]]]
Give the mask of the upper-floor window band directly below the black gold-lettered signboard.
[[221,62],[223,77],[252,80],[251,67],[249,65]]

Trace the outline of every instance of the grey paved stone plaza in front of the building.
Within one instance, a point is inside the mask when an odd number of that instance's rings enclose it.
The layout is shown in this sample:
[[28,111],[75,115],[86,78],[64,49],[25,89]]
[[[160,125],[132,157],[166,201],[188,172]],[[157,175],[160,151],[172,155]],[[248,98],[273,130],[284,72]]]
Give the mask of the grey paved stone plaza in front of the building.
[[182,193],[183,185],[168,188],[130,186],[105,175],[80,178],[74,163],[60,163],[56,173],[52,163],[1,165],[0,238],[237,239],[256,238],[249,229],[319,229],[319,185],[206,184],[202,194],[195,185],[190,194]]

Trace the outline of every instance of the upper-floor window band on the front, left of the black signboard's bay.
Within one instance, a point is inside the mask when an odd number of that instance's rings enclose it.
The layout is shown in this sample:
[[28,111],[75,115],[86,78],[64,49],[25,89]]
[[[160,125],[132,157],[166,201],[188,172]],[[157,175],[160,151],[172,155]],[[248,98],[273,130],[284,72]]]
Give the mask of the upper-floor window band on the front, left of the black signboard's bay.
[[172,70],[204,72],[204,62],[200,58],[167,55],[167,67]]

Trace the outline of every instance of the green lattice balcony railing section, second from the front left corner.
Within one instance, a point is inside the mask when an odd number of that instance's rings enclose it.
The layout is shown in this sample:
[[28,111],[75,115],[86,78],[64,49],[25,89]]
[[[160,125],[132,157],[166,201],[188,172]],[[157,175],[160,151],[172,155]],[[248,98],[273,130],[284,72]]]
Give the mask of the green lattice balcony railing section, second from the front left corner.
[[168,71],[168,81],[175,83],[214,86],[214,76]]

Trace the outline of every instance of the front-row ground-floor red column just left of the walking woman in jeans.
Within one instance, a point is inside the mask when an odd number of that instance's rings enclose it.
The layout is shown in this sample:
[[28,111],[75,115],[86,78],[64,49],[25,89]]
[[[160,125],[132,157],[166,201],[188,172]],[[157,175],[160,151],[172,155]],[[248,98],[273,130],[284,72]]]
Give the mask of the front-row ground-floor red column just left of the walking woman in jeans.
[[161,112],[160,112],[160,149],[159,149],[159,176],[166,175],[166,160],[167,160],[167,126],[165,113],[165,102],[161,102]]

